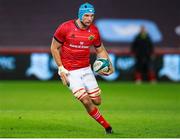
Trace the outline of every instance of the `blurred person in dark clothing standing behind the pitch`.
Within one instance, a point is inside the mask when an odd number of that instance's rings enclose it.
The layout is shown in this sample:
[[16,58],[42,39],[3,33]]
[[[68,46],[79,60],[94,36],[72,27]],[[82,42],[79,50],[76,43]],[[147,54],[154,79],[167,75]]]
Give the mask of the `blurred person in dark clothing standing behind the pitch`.
[[134,74],[136,83],[141,83],[144,76],[147,77],[149,81],[155,82],[156,77],[152,63],[154,46],[144,26],[141,26],[139,34],[132,43],[131,52],[136,60]]

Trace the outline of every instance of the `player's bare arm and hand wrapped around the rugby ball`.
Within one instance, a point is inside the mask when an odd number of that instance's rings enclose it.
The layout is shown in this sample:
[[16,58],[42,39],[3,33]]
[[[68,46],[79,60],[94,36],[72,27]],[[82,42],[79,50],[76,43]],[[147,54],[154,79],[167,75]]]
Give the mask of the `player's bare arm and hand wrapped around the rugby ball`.
[[109,58],[108,52],[106,51],[103,43],[101,43],[101,46],[95,47],[95,50],[96,50],[97,57],[106,58],[106,59],[109,60],[109,63],[110,63],[109,71],[108,72],[102,72],[100,74],[102,74],[102,75],[110,75],[110,74],[112,74],[114,72],[114,68],[112,66],[112,63],[111,63],[111,60]]

